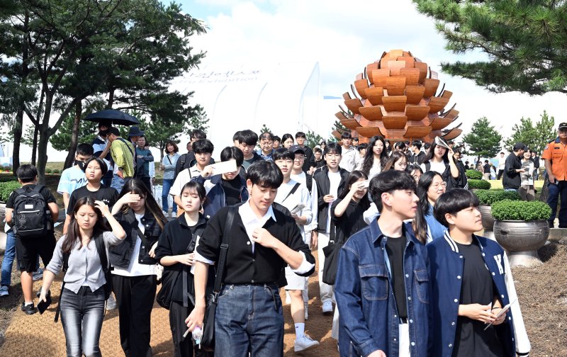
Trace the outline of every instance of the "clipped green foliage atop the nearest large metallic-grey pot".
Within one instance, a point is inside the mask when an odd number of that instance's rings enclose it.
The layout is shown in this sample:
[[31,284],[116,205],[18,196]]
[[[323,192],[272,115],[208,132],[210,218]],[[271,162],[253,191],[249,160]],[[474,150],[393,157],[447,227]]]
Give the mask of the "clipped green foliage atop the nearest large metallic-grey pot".
[[547,220],[551,216],[551,208],[541,201],[501,200],[492,205],[495,220]]

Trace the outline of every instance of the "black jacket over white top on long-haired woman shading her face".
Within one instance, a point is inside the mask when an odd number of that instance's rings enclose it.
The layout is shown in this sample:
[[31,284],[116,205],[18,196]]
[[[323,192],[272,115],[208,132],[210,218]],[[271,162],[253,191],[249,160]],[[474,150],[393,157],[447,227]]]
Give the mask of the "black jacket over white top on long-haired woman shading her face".
[[[123,242],[116,246],[111,246],[108,249],[108,259],[111,261],[112,266],[128,268],[130,259],[133,258],[132,254],[138,237],[136,229],[137,220],[133,210],[128,210],[125,214],[118,212],[114,217],[123,227],[126,232],[126,237]],[[147,210],[144,217],[142,217],[142,224],[145,227],[144,236],[140,237],[142,239],[142,245],[140,246],[140,254],[137,256],[138,263],[146,265],[155,264],[157,261],[150,257],[150,250],[152,249],[152,245],[159,239],[159,235],[162,234],[162,227],[159,227],[157,220],[149,210]]]

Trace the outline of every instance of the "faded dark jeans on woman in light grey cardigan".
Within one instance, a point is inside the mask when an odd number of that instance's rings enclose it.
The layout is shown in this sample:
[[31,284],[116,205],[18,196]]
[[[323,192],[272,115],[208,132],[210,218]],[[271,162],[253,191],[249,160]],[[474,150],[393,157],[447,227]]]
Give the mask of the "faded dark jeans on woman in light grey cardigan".
[[88,286],[82,286],[77,294],[64,288],[61,293],[61,323],[67,341],[67,357],[101,356],[104,288],[92,292]]

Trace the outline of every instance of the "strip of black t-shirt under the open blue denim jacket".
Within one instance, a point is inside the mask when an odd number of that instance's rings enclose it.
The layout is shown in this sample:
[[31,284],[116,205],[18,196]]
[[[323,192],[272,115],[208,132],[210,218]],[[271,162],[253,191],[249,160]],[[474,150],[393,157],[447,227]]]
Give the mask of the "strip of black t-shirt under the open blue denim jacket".
[[408,317],[408,305],[405,297],[405,282],[403,275],[403,251],[405,249],[405,235],[399,238],[388,237],[386,252],[390,261],[391,281],[394,290],[395,305],[398,306],[398,316]]

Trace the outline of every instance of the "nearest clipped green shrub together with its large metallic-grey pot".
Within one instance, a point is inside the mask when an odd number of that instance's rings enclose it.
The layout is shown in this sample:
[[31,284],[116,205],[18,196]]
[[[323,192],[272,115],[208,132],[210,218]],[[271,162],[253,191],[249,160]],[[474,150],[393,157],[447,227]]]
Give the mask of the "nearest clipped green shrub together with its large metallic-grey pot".
[[492,205],[494,237],[509,252],[510,266],[538,266],[537,249],[549,237],[551,208],[540,201],[501,200]]

